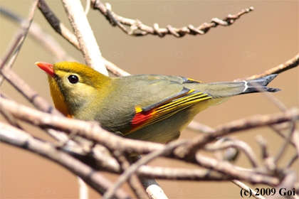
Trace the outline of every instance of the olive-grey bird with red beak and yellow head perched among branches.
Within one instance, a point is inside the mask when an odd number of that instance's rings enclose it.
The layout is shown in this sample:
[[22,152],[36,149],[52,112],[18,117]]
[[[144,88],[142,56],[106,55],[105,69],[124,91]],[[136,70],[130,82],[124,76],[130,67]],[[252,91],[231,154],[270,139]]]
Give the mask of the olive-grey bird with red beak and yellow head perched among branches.
[[53,104],[66,117],[99,122],[129,139],[168,143],[199,112],[230,97],[278,92],[266,87],[277,74],[239,82],[202,83],[170,75],[108,77],[75,62],[37,62],[48,74]]

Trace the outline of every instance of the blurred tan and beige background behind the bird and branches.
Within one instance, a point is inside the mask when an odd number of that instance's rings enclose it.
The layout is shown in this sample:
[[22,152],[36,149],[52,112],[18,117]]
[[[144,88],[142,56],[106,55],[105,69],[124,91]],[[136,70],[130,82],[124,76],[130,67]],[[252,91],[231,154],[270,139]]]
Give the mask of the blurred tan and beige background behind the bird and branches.
[[[70,23],[61,1],[46,1],[61,21],[70,30]],[[98,11],[90,10],[88,19],[100,51],[107,60],[131,74],[163,74],[189,77],[202,82],[231,81],[248,77],[273,68],[293,58],[298,53],[298,1],[102,1],[109,2],[115,14],[139,19],[147,26],[158,23],[159,27],[180,28],[192,24],[197,27],[211,18],[224,18],[237,14],[241,9],[254,7],[254,11],[241,16],[229,27],[211,28],[204,36],[132,37],[110,23]],[[85,6],[85,1],[82,1]],[[31,1],[5,1],[1,6],[27,17]],[[34,22],[51,34],[58,43],[77,59],[85,63],[83,55],[59,36],[40,11],[36,11]],[[16,36],[19,25],[1,16],[1,58]],[[21,53],[13,70],[26,80],[34,90],[52,103],[45,72],[34,63],[53,63],[53,54],[35,43],[29,36],[23,43]],[[281,73],[270,84],[282,91],[274,93],[286,107],[298,107],[298,68]],[[31,106],[8,82],[1,86],[16,102]],[[262,94],[241,95],[229,102],[201,112],[195,120],[216,127],[234,119],[254,114],[269,114],[280,110]],[[1,120],[4,120],[1,117]],[[28,132],[41,139],[52,140],[43,131],[23,124]],[[261,155],[256,135],[268,140],[268,147],[275,155],[283,140],[268,127],[234,134],[252,146]],[[185,129],[181,138],[192,139],[197,133]],[[278,163],[283,166],[295,154],[288,148]],[[1,198],[78,198],[78,182],[73,173],[41,156],[1,144]],[[238,166],[250,167],[241,154]],[[159,158],[150,165],[196,168],[178,161]],[[293,165],[298,171],[298,162]],[[106,174],[115,180],[117,176]],[[240,188],[230,182],[190,182],[157,180],[169,198],[240,198]],[[266,188],[266,185],[250,185],[251,188]],[[128,186],[124,188],[129,190]],[[90,198],[100,195],[90,189]]]

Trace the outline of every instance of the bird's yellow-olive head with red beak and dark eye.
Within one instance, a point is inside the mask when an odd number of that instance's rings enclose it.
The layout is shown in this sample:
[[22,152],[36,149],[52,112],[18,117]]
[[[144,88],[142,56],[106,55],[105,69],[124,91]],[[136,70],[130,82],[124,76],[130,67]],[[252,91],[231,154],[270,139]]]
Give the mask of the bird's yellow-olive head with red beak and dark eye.
[[[105,87],[111,78],[100,72],[75,62],[37,62],[39,68],[47,72],[51,96],[56,109],[65,116],[73,117],[86,108],[90,101],[105,95]],[[102,96],[103,97],[103,96]]]

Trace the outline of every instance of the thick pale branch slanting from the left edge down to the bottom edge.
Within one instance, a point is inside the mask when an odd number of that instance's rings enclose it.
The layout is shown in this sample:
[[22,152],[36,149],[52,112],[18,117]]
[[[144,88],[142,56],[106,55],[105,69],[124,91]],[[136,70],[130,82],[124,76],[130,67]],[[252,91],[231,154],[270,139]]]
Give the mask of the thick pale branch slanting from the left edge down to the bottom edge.
[[[112,183],[100,173],[96,173],[92,168],[72,156],[65,154],[65,152],[59,151],[52,144],[34,139],[24,131],[2,122],[0,122],[0,141],[20,148],[26,147],[29,151],[59,163],[61,166],[68,168],[68,170],[75,175],[80,176],[80,178],[101,194],[105,193],[105,190],[112,185]],[[116,198],[129,198],[127,193],[120,189],[117,190],[114,195]]]

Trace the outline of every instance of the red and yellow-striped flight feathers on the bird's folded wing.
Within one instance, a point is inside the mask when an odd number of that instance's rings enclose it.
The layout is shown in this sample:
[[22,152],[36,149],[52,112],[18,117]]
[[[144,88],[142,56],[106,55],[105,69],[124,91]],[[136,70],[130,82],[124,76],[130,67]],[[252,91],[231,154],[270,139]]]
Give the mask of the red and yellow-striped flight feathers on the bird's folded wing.
[[[184,91],[187,89],[184,88]],[[132,119],[131,122],[131,131],[136,131],[141,129],[142,127],[146,127],[150,124],[154,124],[155,122],[159,122],[162,119],[172,116],[176,114],[182,109],[186,109],[187,107],[196,104],[197,102],[210,99],[211,95],[199,92],[195,90],[187,90],[187,92],[183,92],[182,95],[174,95],[170,97],[169,100],[165,102],[159,102],[154,104],[154,106],[149,107],[136,107],[136,114],[135,117]]]

